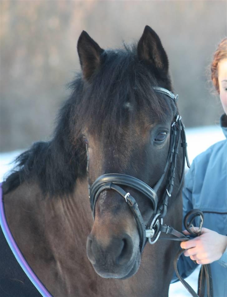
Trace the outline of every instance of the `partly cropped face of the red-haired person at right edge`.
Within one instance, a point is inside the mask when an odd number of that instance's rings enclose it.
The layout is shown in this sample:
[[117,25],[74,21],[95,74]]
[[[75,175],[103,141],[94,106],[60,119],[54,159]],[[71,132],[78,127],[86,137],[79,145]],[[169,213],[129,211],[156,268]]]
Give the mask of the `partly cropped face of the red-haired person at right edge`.
[[218,83],[221,104],[227,114],[227,59],[222,59],[218,63]]

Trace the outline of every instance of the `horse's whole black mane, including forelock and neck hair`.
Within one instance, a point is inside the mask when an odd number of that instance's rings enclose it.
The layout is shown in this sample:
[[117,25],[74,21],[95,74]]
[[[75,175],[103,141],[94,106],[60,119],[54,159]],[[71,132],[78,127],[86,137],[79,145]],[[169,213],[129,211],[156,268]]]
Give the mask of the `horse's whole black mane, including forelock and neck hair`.
[[[52,140],[36,142],[17,157],[14,171],[3,183],[4,194],[25,180],[38,181],[50,196],[72,192],[77,177],[86,174],[83,127],[108,132],[114,140],[138,113],[152,114],[152,121],[160,121],[175,107],[154,93],[152,86],[157,85],[172,91],[169,76],[139,60],[135,46],[104,51],[99,71],[89,81],[78,74],[70,84],[72,93],[60,109]],[[128,103],[130,110],[125,113]]]

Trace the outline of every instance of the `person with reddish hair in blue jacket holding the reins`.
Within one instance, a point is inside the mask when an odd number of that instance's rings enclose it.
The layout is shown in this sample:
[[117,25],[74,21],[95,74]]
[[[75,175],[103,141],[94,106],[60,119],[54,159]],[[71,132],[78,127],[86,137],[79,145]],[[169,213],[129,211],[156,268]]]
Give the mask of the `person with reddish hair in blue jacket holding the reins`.
[[[226,38],[215,51],[211,78],[225,111],[220,125],[227,138]],[[179,259],[179,272],[186,278],[197,264],[210,263],[214,296],[227,296],[227,140],[215,143],[194,159],[186,174],[182,195],[183,217],[193,208],[202,210],[204,228],[200,236],[181,242],[186,257],[182,255]],[[199,218],[196,226],[199,226]],[[196,232],[198,228],[194,227],[192,231]],[[175,275],[172,282],[176,280]]]

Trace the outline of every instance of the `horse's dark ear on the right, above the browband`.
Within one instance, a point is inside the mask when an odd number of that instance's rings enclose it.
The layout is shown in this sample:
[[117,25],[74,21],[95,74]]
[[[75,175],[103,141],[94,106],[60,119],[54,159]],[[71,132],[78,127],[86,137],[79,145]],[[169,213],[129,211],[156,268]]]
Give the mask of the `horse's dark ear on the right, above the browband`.
[[168,72],[169,62],[160,38],[151,27],[146,26],[137,46],[138,57]]

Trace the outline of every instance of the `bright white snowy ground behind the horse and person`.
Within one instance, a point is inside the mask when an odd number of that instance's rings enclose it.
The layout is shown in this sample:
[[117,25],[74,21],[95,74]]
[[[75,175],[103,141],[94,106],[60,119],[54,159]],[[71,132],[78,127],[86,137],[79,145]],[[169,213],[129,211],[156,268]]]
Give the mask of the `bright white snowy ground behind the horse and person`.
[[[206,126],[186,129],[186,138],[188,143],[188,157],[191,163],[197,155],[205,151],[215,142],[224,140],[225,136],[219,126]],[[22,151],[12,151],[0,153],[0,181],[3,180],[4,175],[7,175],[7,171],[13,168],[12,161],[21,152]],[[199,269],[197,269],[186,279],[186,281],[193,287],[196,292],[198,274]],[[180,282],[170,285],[169,297],[187,296],[191,295]]]

